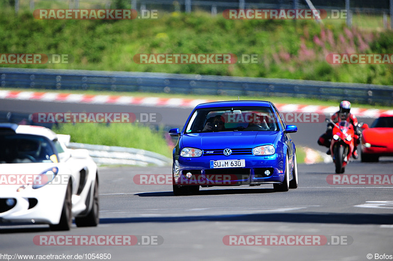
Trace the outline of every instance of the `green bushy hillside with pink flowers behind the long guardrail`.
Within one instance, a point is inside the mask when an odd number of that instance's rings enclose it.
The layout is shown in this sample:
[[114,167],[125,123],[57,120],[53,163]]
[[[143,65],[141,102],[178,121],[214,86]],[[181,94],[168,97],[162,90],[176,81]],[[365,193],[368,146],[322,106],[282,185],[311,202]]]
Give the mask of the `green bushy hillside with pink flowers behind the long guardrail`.
[[[120,6],[127,1],[116,0]],[[3,7],[3,8],[2,8]],[[38,6],[37,6],[38,7]],[[48,7],[49,8],[49,7]],[[53,6],[52,6],[53,8]],[[64,8],[64,7],[63,7]],[[369,32],[342,23],[291,20],[227,20],[209,13],[160,13],[148,20],[36,20],[0,3],[2,53],[61,53],[69,64],[1,67],[164,72],[240,77],[297,78],[392,84],[391,65],[331,65],[326,53],[393,53],[393,32]],[[331,23],[331,24],[329,24]],[[351,39],[347,32],[354,35]],[[322,37],[330,31],[332,41]],[[342,37],[345,44],[341,43]],[[316,38],[316,39],[315,39]],[[322,42],[316,44],[316,40]],[[361,43],[364,43],[361,48]],[[364,50],[364,48],[366,48]],[[259,64],[137,64],[137,53],[259,54]]]

